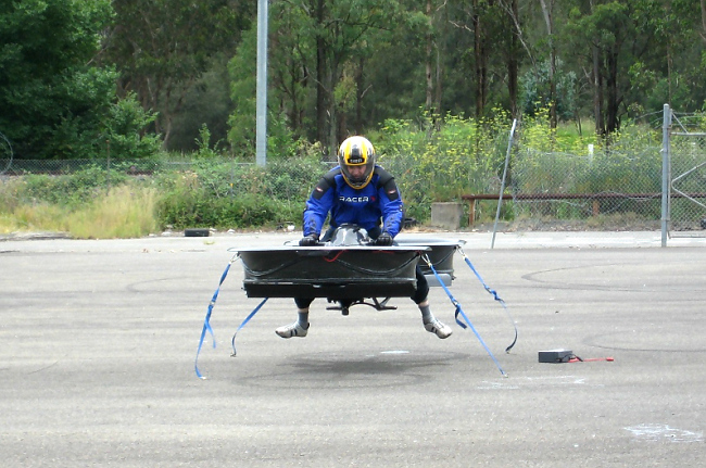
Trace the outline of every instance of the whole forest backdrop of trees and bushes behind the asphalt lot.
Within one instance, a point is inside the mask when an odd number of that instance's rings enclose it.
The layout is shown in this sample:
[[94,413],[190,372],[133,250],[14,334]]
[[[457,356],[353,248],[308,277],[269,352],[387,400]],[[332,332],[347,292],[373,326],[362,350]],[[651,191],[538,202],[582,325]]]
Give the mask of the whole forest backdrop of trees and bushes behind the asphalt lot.
[[[650,128],[645,115],[664,103],[703,111],[705,1],[273,0],[272,164],[261,174],[234,169],[255,153],[256,2],[2,0],[0,132],[15,162],[126,164],[116,174],[89,167],[78,181],[54,174],[3,182],[5,230],[40,223],[42,210],[94,203],[106,180],[136,184],[125,170],[135,161],[196,164],[140,182],[139,197],[152,202],[138,204],[153,206],[140,235],[270,210],[250,225],[295,219],[303,200],[291,198],[305,198],[316,164],[354,134],[367,135],[389,165],[417,167],[400,179],[420,218],[431,201],[493,188],[515,118],[526,148],[643,151],[659,138],[640,129]],[[441,177],[412,187],[425,174]],[[236,179],[295,190],[274,201],[259,193],[262,184],[238,188]],[[276,202],[286,207],[263,206]]]

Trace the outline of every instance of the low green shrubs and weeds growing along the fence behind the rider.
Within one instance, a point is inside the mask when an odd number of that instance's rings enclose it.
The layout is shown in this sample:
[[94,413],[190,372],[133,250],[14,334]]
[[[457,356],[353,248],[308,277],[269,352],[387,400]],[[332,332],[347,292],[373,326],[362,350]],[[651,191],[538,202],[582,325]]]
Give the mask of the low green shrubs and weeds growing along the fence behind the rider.
[[[641,212],[643,216],[656,216],[658,204],[652,203],[653,200],[646,203],[632,200],[629,194],[660,190],[659,129],[623,125],[609,139],[581,137],[570,127],[552,129],[546,117],[546,111],[542,110],[534,118],[525,121],[516,136],[518,144],[512,153],[506,185],[508,201],[501,211],[503,219],[528,222],[550,216],[583,219],[591,215],[590,204],[587,211],[585,204],[542,201],[527,208],[519,200],[509,200],[514,193],[555,192],[627,193],[628,198],[617,206],[609,208],[607,203],[602,204],[601,212],[626,216]],[[465,193],[497,193],[509,128],[508,116],[497,111],[487,119],[423,115],[417,123],[388,121],[380,131],[367,136],[375,142],[380,164],[395,176],[407,216],[425,223],[436,201],[458,201]],[[201,139],[206,148],[205,127]],[[589,143],[593,144],[592,154],[588,151]],[[152,191],[150,212],[157,227],[249,229],[299,223],[304,201],[330,166],[319,162],[318,146],[300,140],[294,154],[269,161],[265,167],[217,155],[191,157],[171,166],[148,160],[156,172],[152,177],[138,179],[128,176],[133,170],[128,162],[112,165],[110,177],[105,167],[98,165],[75,174],[25,175],[2,185],[0,203],[5,207],[0,217],[4,219],[11,213],[10,216],[24,219],[22,223],[27,226],[37,226],[40,218],[56,218],[51,215],[52,210],[85,212],[88,205],[105,197],[110,178],[112,187]],[[693,164],[697,154],[697,148],[690,144],[680,150],[675,161]],[[688,190],[698,191],[698,180]],[[116,206],[116,213],[129,212],[117,210],[116,203],[110,204]],[[495,202],[478,203],[480,220],[492,219],[495,208]],[[87,223],[89,217],[75,223]],[[92,237],[101,237],[91,232]]]

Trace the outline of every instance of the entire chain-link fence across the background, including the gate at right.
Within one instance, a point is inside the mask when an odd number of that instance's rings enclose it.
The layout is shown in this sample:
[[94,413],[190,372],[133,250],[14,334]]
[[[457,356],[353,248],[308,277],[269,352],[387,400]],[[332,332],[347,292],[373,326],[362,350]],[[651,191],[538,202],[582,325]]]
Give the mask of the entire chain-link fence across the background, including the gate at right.
[[[706,232],[706,134],[703,116],[676,116],[671,132],[671,233]],[[686,131],[689,130],[689,131]],[[465,219],[490,227],[500,214],[500,230],[659,228],[661,216],[661,128],[655,124],[626,126],[621,135],[581,151],[539,150],[528,143],[519,126],[503,166],[508,134],[499,130],[484,148],[464,143],[416,149],[387,149],[380,163],[401,188],[407,215],[425,222],[439,201],[464,203]],[[551,147],[551,146],[550,146]],[[419,148],[432,148],[423,154]],[[398,151],[399,150],[399,151]],[[431,154],[429,154],[429,151]],[[482,156],[479,156],[482,155]],[[188,182],[198,179],[209,197],[261,194],[283,201],[292,213],[303,206],[313,186],[335,163],[312,159],[270,160],[266,167],[234,159],[26,161],[0,157],[0,177],[64,175],[86,172],[104,189],[125,180],[159,180],[167,175]],[[187,184],[185,182],[185,184]],[[500,191],[504,187],[501,210]],[[467,227],[465,222],[462,227]]]

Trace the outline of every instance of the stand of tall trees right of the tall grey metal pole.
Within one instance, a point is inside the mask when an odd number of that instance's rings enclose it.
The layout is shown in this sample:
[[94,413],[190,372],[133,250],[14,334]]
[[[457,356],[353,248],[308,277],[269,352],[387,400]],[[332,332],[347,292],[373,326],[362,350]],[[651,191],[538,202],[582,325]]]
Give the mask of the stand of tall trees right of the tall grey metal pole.
[[[593,114],[606,135],[664,99],[703,105],[699,9],[693,0],[274,2],[269,119],[332,151],[346,134],[420,111],[483,117],[502,107],[517,117],[541,102],[553,121]],[[231,122],[252,121],[252,131],[253,63],[244,48],[231,62]]]

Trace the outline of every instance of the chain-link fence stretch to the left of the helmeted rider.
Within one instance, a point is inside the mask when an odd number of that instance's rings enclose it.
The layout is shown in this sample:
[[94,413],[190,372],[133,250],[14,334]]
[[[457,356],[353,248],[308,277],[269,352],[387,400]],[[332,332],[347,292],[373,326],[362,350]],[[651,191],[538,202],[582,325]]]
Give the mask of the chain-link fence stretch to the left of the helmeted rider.
[[[0,203],[66,204],[96,199],[125,184],[153,187],[164,198],[234,202],[272,200],[301,213],[304,201],[332,163],[272,161],[266,167],[228,157],[155,160],[0,160]],[[10,200],[11,199],[11,200]],[[199,201],[198,203],[201,203]],[[260,202],[253,202],[260,203]],[[213,210],[204,202],[202,208]],[[291,219],[282,219],[282,222]]]

